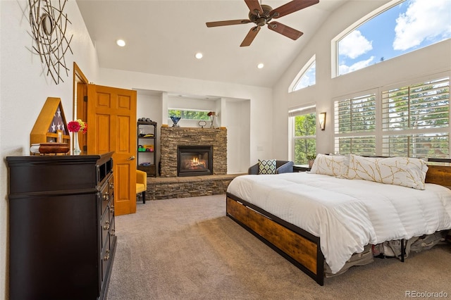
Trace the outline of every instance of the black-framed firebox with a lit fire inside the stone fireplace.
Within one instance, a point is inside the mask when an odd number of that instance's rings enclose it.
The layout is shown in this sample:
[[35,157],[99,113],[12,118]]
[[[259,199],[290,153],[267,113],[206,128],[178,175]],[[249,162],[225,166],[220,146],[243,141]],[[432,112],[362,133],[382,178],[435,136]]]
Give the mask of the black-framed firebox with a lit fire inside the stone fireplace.
[[177,146],[177,176],[213,174],[213,146]]

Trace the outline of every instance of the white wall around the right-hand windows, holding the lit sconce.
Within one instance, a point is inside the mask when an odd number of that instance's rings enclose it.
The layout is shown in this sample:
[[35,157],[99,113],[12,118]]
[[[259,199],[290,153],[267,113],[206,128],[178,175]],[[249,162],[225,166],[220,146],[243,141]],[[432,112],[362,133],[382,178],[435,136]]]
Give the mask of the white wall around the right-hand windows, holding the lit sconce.
[[[288,109],[316,103],[316,113],[325,111],[326,130],[317,131],[318,153],[333,152],[333,101],[337,96],[382,87],[451,70],[451,40],[392,58],[347,75],[331,78],[330,41],[363,15],[387,3],[378,1],[349,1],[333,12],[304,50],[286,70],[273,88],[273,154],[288,154]],[[288,93],[293,78],[309,58],[316,54],[316,85]]]

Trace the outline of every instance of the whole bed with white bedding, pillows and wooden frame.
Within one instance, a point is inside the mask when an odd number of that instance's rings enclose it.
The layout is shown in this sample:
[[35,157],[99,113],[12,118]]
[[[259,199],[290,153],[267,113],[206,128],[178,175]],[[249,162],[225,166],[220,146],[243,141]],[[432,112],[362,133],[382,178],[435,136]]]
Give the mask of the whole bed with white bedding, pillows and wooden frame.
[[319,156],[312,173],[242,175],[226,194],[228,217],[319,285],[373,245],[400,242],[403,261],[406,241],[451,229],[450,159]]

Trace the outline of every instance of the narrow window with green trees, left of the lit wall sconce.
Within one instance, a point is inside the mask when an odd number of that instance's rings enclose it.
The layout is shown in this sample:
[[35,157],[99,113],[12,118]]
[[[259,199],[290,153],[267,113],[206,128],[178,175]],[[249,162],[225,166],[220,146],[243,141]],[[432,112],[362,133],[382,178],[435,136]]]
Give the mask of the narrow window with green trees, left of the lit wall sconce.
[[296,115],[294,118],[295,165],[306,165],[308,156],[316,156],[316,113]]

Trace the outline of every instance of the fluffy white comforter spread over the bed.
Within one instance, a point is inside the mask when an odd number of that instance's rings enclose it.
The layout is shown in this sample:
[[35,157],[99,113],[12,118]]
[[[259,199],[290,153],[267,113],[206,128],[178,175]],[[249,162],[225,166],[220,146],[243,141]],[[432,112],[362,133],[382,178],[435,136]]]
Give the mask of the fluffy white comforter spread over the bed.
[[440,185],[418,190],[284,173],[235,177],[228,192],[320,237],[333,273],[366,244],[451,229],[451,190]]

